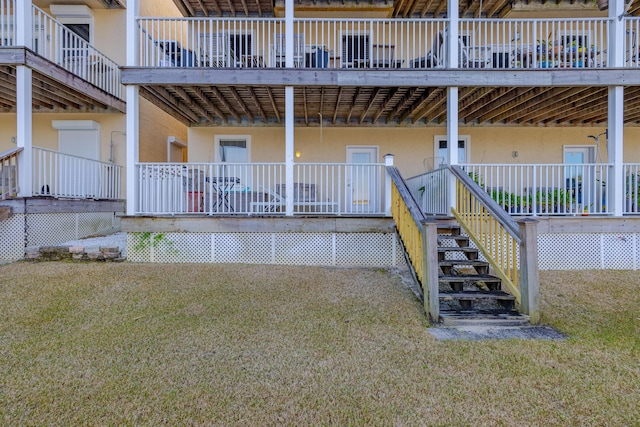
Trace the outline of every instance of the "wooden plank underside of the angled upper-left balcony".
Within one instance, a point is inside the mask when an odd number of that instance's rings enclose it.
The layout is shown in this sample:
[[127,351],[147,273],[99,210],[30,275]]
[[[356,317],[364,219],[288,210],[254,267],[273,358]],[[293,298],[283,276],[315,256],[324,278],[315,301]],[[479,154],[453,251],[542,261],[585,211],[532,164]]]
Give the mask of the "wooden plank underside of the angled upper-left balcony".
[[[16,68],[0,65],[0,112],[16,111]],[[33,111],[115,112],[113,107],[88,96],[81,89],[61,83],[44,73],[33,72]]]

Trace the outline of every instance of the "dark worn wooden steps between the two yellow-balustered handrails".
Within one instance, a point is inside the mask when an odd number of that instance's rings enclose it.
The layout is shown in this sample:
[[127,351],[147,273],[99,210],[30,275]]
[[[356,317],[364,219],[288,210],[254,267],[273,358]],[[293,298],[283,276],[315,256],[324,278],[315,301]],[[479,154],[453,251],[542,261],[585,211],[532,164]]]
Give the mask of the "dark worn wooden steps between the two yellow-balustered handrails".
[[460,226],[438,224],[438,288],[440,323],[447,326],[522,326],[528,316],[515,309],[515,297],[502,290],[502,280],[479,260]]

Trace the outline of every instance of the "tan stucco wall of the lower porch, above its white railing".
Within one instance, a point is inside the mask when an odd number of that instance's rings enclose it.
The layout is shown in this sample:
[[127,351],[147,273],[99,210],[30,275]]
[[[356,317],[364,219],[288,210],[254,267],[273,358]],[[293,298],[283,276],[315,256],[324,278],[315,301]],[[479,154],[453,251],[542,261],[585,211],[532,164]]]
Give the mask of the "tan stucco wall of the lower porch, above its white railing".
[[[460,128],[470,137],[472,163],[561,163],[563,146],[594,145],[588,135],[601,128]],[[190,128],[189,161],[214,161],[216,135],[250,135],[251,160],[284,161],[284,128]],[[380,162],[386,153],[395,155],[403,174],[424,172],[424,162],[434,157],[434,138],[445,128],[296,128],[295,149],[300,162],[344,162],[347,145],[377,146]],[[625,162],[640,162],[640,128],[625,129]],[[517,152],[517,157],[514,157]],[[602,162],[607,161],[605,138],[601,138]]]

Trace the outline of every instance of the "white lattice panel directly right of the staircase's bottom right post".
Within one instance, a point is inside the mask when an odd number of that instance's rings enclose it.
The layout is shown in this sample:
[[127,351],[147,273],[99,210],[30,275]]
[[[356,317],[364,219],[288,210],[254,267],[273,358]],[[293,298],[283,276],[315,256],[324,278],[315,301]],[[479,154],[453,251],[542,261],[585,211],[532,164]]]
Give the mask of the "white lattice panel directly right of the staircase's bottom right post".
[[541,234],[538,265],[540,270],[600,269],[600,234]]

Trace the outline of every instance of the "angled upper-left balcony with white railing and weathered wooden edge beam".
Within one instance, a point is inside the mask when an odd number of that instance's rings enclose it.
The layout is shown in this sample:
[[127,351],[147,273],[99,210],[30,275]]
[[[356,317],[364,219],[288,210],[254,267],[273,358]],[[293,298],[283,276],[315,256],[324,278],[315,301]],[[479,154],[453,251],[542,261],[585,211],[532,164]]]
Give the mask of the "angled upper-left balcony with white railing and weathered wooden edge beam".
[[[98,88],[106,94],[98,96],[98,106],[115,107],[117,110],[123,109],[120,69],[115,61],[35,5],[32,6],[31,25],[33,32],[30,45],[19,45],[17,37],[18,23],[14,13],[15,6],[16,0],[0,1],[0,54],[2,54],[2,63],[8,65],[30,65],[36,71],[39,71],[39,76],[42,75],[41,87],[58,86],[59,82],[63,82],[67,86],[73,86],[70,82],[74,79],[67,77],[68,74],[71,74],[80,79],[75,80],[79,95],[84,94],[86,97],[93,91],[93,88]],[[27,49],[24,49],[25,47]],[[42,61],[43,59],[46,61]],[[51,67],[51,63],[57,67]],[[91,86],[83,82],[89,83]],[[65,90],[60,90],[59,92],[65,92]],[[116,100],[109,99],[110,97]],[[48,101],[48,105],[52,107],[59,106],[60,108],[69,108],[70,105],[82,108],[82,105],[85,105],[78,99],[70,104],[66,102],[58,102],[58,104],[54,103],[53,99]],[[95,103],[86,102],[86,108],[94,107]]]

